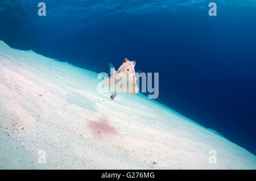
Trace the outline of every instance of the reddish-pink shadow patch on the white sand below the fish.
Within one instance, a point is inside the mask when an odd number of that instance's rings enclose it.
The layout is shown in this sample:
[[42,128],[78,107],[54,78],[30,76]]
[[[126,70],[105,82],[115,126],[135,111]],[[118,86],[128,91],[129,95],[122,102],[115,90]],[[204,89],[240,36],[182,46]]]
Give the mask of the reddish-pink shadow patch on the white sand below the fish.
[[113,127],[110,127],[106,119],[99,119],[97,121],[90,121],[88,124],[90,130],[93,134],[96,134],[98,137],[106,137],[113,134],[116,134],[116,130]]

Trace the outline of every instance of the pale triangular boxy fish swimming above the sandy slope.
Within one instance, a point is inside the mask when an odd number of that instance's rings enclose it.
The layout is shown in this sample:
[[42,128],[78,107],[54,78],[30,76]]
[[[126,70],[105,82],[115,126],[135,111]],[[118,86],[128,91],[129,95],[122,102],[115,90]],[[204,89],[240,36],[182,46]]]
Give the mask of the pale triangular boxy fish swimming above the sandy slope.
[[115,71],[112,64],[110,64],[110,77],[104,82],[104,85],[114,89],[115,92],[110,96],[113,100],[119,92],[126,92],[127,94],[137,94],[139,91],[137,85],[137,78],[135,77],[134,66],[135,61],[129,61],[127,58],[123,60],[123,64]]

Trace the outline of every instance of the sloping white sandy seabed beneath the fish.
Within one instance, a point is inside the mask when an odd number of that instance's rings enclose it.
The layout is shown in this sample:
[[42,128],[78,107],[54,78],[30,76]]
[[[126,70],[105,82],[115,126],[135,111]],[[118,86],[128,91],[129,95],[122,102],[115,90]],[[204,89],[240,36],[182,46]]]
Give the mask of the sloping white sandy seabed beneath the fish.
[[210,129],[142,94],[110,100],[98,82],[0,41],[0,169],[256,169]]

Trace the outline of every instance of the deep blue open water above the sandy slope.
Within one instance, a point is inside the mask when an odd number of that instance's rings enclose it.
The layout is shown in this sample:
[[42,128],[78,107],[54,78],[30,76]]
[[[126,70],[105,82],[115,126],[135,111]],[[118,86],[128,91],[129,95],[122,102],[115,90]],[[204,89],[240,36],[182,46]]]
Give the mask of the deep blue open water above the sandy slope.
[[256,154],[256,2],[0,1],[12,48],[108,73],[123,58],[159,73],[158,102]]

